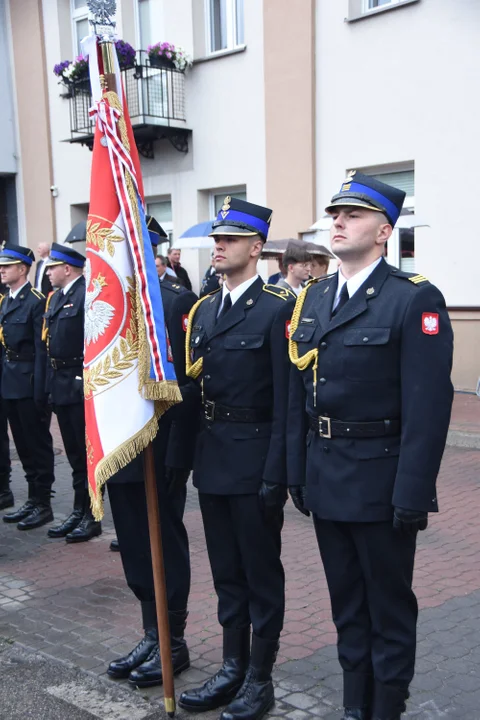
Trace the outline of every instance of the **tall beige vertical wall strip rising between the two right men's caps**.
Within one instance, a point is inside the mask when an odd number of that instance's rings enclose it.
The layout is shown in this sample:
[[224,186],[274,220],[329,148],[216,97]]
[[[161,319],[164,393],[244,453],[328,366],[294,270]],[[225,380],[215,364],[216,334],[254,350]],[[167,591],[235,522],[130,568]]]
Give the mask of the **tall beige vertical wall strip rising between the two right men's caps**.
[[264,0],[265,136],[270,238],[315,222],[315,2]]

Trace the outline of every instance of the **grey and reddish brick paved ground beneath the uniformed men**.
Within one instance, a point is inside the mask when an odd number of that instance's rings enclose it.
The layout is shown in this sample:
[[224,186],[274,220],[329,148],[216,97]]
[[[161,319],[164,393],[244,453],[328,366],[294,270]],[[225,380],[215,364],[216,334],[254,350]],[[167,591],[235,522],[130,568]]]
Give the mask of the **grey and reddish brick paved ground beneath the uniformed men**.
[[[452,431],[457,429],[480,433],[478,398],[457,396]],[[55,443],[61,450],[57,431]],[[71,506],[63,453],[56,458],[56,475],[54,507],[59,520]],[[480,720],[480,451],[449,447],[438,485],[441,512],[419,537],[419,649],[406,716]],[[20,504],[26,488],[18,462],[13,488]],[[186,524],[193,569],[187,628],[192,668],[177,678],[177,696],[201,682],[221,657],[215,596],[193,489]],[[137,604],[125,586],[118,554],[108,549],[113,537],[108,506],[103,535],[85,545],[50,540],[46,528],[21,533],[0,523],[0,638],[6,641],[0,642],[1,720],[164,717],[161,689],[134,691],[126,682],[105,676],[108,662],[140,638]],[[290,503],[283,558],[287,614],[275,670],[278,701],[269,717],[334,720],[339,717],[341,675],[325,578],[310,520]]]

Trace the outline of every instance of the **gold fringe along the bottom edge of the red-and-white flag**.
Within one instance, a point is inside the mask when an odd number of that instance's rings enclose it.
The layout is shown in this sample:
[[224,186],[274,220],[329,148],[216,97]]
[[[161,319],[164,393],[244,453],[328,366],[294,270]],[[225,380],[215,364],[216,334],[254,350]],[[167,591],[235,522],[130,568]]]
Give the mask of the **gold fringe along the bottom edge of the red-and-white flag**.
[[[149,443],[151,443],[158,431],[158,418],[161,412],[155,412],[155,415],[150,418],[147,424],[139,430],[133,437],[126,440],[123,445],[116,448],[113,453],[104,457],[101,462],[98,463],[95,470],[95,485],[96,495],[94,494],[90,485],[88,486],[88,492],[90,495],[90,505],[92,508],[93,517],[97,522],[103,518],[103,498],[101,489],[103,485],[109,480],[115,473],[124,468],[134,458],[137,457]],[[87,443],[88,444],[88,443]]]

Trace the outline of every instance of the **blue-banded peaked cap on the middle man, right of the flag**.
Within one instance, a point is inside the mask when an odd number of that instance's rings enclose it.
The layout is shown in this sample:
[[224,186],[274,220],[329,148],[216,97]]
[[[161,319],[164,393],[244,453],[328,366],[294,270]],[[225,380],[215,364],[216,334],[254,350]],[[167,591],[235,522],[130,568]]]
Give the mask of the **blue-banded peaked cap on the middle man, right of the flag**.
[[215,235],[260,235],[265,242],[270,229],[272,211],[261,205],[254,205],[246,200],[239,200],[227,195],[212,224],[209,237]]

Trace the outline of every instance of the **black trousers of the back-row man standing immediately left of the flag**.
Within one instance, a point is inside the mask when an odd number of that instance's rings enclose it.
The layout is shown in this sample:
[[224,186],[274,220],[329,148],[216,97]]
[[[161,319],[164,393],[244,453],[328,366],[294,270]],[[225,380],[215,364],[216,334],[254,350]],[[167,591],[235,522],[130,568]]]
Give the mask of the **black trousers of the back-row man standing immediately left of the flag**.
[[87,490],[87,449],[85,444],[85,408],[82,403],[55,405],[68,462],[72,468],[74,491]]

